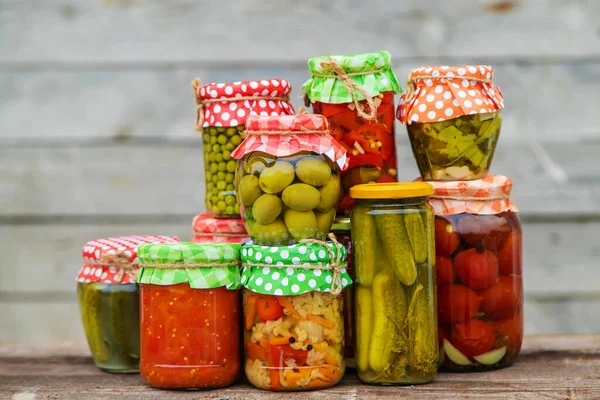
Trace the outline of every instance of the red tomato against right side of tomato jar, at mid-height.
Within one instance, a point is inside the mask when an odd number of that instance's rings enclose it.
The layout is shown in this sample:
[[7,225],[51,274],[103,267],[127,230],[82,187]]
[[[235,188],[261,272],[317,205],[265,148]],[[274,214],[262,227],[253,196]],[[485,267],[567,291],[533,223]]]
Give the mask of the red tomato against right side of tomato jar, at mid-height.
[[520,276],[501,276],[498,282],[479,292],[481,308],[491,319],[512,317],[523,302],[523,281]]

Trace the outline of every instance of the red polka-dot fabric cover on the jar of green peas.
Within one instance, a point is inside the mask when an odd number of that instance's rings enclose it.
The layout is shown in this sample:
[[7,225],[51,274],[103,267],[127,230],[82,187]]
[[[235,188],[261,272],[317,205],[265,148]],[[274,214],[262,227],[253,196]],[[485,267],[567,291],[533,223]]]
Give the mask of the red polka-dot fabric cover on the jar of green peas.
[[[196,98],[203,103],[202,127],[244,125],[250,115],[294,114],[294,107],[288,101],[291,90],[292,85],[284,79],[210,83],[200,86],[196,91]],[[200,121],[196,121],[197,125],[199,123]]]

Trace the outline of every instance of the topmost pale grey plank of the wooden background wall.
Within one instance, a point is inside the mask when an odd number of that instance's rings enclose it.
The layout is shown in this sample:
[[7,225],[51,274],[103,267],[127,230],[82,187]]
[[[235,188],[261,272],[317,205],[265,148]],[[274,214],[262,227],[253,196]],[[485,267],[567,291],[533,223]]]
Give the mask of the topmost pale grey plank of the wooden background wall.
[[2,0],[0,10],[5,64],[304,62],[320,55],[315,43],[322,54],[600,55],[595,0]]

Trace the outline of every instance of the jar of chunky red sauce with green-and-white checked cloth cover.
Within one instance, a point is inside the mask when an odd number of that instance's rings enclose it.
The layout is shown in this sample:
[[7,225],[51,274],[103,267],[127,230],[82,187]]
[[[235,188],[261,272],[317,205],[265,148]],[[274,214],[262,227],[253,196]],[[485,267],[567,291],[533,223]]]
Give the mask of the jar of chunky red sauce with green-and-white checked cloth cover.
[[239,244],[139,247],[140,372],[161,389],[221,388],[240,362]]

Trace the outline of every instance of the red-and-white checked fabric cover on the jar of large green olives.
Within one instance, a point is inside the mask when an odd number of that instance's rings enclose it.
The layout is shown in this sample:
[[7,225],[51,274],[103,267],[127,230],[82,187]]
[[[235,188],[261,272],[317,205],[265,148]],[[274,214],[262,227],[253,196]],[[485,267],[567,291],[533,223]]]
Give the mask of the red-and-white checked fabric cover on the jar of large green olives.
[[275,157],[311,151],[324,154],[341,170],[348,166],[346,149],[329,134],[329,123],[323,115],[248,117],[246,133],[246,138],[231,153],[231,157],[239,160],[253,151],[262,151]]

